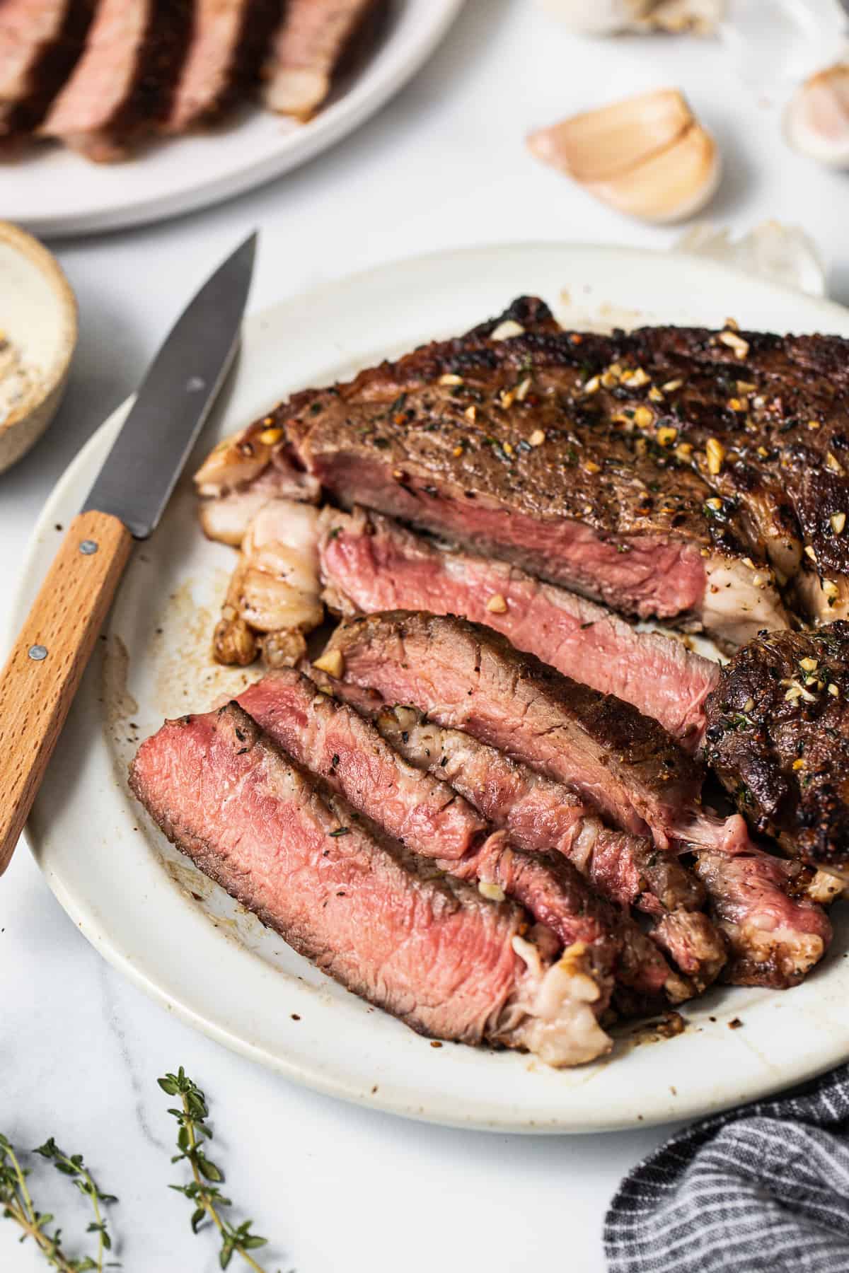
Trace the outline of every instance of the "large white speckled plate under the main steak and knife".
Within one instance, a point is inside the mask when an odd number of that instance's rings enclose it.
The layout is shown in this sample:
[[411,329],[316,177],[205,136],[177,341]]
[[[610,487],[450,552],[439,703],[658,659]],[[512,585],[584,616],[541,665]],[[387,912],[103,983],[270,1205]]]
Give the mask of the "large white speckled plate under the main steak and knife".
[[[597,247],[448,252],[335,283],[252,318],[195,457],[279,396],[461,332],[521,293],[566,322],[704,322],[849,336],[849,312],[686,256]],[[24,566],[22,617],[123,418],[116,412],[53,491]],[[188,471],[191,471],[190,465]],[[136,742],[256,675],[209,658],[232,550],[206,542],[191,484],[139,545],[31,820],[33,853],[81,932],[213,1037],[295,1080],[414,1118],[510,1132],[589,1132],[690,1116],[825,1069],[849,1054],[846,925],[785,993],[722,989],[685,1007],[675,1039],[621,1041],[555,1072],[527,1057],[426,1039],[347,994],[176,854],[126,787]],[[740,1017],[741,1029],[728,1022]]]

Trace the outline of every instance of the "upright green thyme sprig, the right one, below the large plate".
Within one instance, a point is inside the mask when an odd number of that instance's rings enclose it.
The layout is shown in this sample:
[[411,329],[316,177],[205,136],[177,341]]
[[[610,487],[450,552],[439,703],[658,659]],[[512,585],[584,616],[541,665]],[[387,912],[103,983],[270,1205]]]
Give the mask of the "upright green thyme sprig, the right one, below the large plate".
[[220,1214],[223,1207],[232,1207],[233,1203],[218,1188],[219,1184],[223,1184],[224,1175],[220,1167],[207,1158],[204,1150],[204,1142],[213,1138],[213,1132],[206,1125],[209,1110],[204,1092],[186,1074],[182,1066],[176,1074],[165,1074],[164,1078],[158,1078],[157,1082],[163,1092],[168,1096],[179,1096],[182,1102],[179,1109],[168,1110],[179,1125],[179,1130],[177,1132],[177,1148],[179,1153],[176,1153],[171,1161],[187,1161],[191,1166],[193,1179],[187,1185],[171,1185],[171,1188],[176,1189],[177,1193],[185,1194],[186,1198],[195,1203],[191,1217],[192,1232],[196,1234],[207,1220],[211,1221],[221,1239],[221,1249],[218,1256],[220,1267],[225,1269],[233,1255],[237,1254],[242,1256],[249,1268],[255,1269],[255,1273],[263,1273],[262,1267],[257,1264],[251,1251],[257,1246],[265,1246],[269,1241],[267,1237],[260,1237],[258,1234],[251,1232],[251,1225],[253,1223],[251,1220],[246,1220],[237,1227]]

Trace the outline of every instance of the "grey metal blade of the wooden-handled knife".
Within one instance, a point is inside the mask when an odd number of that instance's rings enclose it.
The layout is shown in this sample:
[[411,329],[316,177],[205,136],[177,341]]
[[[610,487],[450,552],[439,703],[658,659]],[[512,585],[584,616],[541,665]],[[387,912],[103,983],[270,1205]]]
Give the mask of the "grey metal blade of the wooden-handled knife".
[[83,504],[118,517],[137,540],[159,522],[235,356],[256,239],[224,261],[172,327]]

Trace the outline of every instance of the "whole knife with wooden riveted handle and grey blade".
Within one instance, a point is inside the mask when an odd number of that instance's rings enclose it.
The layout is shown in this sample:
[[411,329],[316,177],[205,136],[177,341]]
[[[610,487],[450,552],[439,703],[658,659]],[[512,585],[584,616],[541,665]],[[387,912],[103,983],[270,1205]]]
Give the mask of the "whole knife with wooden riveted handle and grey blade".
[[174,323],[0,673],[0,873],[29,816],[134,540],[155,530],[233,362],[257,236]]

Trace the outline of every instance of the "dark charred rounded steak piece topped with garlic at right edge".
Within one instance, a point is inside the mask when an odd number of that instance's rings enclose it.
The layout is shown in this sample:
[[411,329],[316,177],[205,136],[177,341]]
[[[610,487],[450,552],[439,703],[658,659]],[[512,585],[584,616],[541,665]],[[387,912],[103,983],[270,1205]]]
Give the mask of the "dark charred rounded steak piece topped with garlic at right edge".
[[849,872],[849,622],[764,633],[722,670],[705,755],[794,857]]

